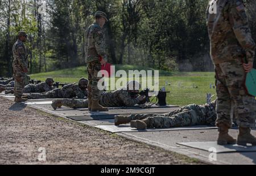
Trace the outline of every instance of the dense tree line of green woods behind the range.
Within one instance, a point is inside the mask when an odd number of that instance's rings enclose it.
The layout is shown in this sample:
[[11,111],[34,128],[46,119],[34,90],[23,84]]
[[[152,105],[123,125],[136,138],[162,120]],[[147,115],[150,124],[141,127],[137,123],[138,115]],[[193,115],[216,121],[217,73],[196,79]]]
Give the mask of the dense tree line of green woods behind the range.
[[[163,70],[212,71],[206,0],[2,0],[0,75],[11,76],[12,46],[26,31],[30,73],[84,63],[84,33],[94,12],[105,24],[108,61]],[[256,41],[256,2],[246,1]]]

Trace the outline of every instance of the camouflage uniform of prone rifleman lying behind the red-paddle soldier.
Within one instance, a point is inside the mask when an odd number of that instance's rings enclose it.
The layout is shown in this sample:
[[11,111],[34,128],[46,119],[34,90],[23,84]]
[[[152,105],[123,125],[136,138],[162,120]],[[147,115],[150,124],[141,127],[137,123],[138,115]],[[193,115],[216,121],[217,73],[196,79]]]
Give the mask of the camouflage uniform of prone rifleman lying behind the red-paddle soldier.
[[[74,100],[64,99],[62,101],[64,106],[70,108],[88,108],[88,100]],[[118,89],[113,92],[103,92],[100,104],[106,107],[118,107],[118,106],[134,106],[140,104],[137,96],[131,96],[130,93],[125,89]]]

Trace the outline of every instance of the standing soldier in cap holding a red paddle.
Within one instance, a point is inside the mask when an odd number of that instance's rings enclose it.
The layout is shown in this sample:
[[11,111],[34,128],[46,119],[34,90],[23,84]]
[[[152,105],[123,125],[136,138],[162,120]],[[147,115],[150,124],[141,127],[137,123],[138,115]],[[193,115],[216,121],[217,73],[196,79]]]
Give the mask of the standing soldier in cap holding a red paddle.
[[85,32],[85,58],[88,71],[88,101],[89,109],[92,111],[108,111],[99,104],[101,92],[97,87],[98,72],[101,70],[101,65],[106,63],[106,51],[104,41],[104,31],[102,30],[105,22],[108,22],[106,14],[102,11],[97,11],[95,14],[96,22],[90,25]]

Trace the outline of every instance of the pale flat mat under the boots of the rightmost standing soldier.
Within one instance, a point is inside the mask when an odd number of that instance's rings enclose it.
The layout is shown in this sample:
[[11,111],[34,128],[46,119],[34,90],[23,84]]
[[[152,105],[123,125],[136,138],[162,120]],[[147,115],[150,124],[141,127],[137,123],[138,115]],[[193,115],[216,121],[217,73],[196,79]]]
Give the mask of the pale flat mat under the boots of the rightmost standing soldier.
[[187,147],[197,148],[208,152],[226,153],[226,152],[256,152],[256,146],[241,146],[241,145],[218,145],[216,141],[203,142],[188,142],[177,143]]

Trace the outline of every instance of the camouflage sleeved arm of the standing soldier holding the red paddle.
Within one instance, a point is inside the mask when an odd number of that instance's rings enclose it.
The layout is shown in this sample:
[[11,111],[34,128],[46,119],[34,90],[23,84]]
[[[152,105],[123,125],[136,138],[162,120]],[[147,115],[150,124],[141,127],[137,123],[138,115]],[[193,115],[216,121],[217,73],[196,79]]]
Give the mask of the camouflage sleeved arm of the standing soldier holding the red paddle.
[[95,29],[94,46],[97,50],[98,55],[100,55],[105,61],[107,61],[104,32],[101,29]]

